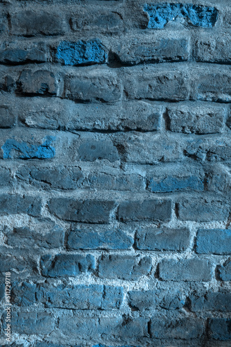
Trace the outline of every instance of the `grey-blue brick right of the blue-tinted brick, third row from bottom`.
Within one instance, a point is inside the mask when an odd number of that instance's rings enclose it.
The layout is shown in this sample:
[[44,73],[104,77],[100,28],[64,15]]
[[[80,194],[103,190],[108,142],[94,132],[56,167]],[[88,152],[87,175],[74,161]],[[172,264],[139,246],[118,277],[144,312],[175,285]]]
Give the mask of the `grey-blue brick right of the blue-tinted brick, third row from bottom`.
[[151,257],[139,259],[131,255],[102,255],[99,260],[98,276],[138,280],[141,276],[147,276],[150,271]]

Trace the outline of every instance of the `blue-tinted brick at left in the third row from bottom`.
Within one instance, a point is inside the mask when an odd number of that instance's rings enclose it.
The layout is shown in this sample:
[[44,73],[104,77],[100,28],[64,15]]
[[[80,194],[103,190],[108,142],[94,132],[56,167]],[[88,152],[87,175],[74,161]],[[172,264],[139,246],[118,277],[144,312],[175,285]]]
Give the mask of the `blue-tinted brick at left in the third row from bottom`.
[[79,276],[95,269],[95,258],[89,254],[43,255],[40,266],[42,275],[46,277]]

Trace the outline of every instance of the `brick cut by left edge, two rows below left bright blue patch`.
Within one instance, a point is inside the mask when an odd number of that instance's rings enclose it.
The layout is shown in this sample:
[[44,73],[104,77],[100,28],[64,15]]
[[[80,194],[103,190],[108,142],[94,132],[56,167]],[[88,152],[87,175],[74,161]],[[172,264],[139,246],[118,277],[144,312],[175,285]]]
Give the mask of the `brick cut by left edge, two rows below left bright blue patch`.
[[41,199],[37,196],[20,196],[19,194],[0,195],[0,214],[26,213],[33,217],[41,214]]

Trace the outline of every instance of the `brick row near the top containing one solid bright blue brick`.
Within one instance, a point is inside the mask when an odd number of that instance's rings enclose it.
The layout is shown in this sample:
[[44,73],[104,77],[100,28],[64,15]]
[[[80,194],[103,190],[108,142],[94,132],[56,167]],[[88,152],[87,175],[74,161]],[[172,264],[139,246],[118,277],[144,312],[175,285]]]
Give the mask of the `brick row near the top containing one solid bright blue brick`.
[[[63,65],[93,65],[115,62],[121,66],[132,66],[143,63],[210,62],[230,64],[231,56],[228,50],[229,35],[216,35],[212,38],[199,34],[195,43],[187,36],[166,38],[163,33],[158,35],[130,38],[118,44],[118,39],[108,41],[100,39],[79,41],[41,42],[21,41],[3,42],[1,44],[0,64],[25,64],[57,62]],[[190,56],[192,47],[192,57]]]

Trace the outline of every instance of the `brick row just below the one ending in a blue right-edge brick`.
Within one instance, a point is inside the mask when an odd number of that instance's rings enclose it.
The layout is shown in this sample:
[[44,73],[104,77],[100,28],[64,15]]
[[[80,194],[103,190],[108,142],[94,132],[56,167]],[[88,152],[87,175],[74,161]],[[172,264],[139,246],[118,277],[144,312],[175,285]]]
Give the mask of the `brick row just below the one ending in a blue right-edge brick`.
[[[35,250],[36,251],[36,250]],[[17,254],[20,254],[16,251]],[[98,260],[98,264],[96,261]],[[20,256],[18,259],[6,256],[4,264],[1,256],[2,274],[8,269],[15,269],[14,279],[26,278],[28,273],[35,278],[37,260],[33,255]],[[96,259],[86,253],[58,253],[42,255],[40,259],[41,275],[44,278],[77,278],[82,275],[95,275],[102,279],[120,279],[136,281],[156,273],[160,281],[165,282],[210,282],[216,273],[216,279],[230,280],[230,260],[212,269],[212,262],[201,257],[187,259],[163,259],[153,268],[150,255],[101,255]]]

